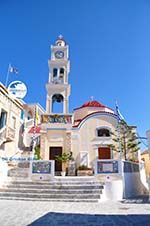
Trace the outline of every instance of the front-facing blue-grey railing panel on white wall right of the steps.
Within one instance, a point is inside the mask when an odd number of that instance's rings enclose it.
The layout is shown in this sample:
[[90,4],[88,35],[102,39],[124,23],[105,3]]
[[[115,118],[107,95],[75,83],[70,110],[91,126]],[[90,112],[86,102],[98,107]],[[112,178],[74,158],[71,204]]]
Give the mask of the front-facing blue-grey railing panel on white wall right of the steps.
[[119,173],[119,161],[114,159],[97,160],[95,174]]

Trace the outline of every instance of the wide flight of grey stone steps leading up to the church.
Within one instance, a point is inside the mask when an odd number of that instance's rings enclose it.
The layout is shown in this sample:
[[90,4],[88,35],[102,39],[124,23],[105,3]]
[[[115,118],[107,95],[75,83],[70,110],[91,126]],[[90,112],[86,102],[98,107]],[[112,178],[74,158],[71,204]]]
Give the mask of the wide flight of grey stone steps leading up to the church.
[[51,181],[18,180],[0,188],[0,199],[98,202],[103,184],[95,177],[55,177]]

